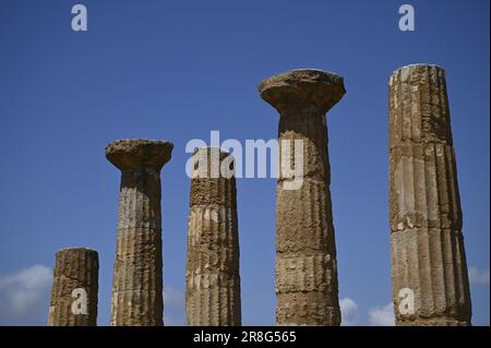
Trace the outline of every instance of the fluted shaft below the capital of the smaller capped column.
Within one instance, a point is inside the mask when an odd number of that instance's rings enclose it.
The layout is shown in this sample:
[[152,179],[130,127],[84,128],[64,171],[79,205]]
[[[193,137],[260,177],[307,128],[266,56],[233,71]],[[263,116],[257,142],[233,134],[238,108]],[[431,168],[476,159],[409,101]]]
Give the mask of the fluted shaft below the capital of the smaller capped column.
[[123,170],[112,283],[112,325],[163,325],[160,177]]

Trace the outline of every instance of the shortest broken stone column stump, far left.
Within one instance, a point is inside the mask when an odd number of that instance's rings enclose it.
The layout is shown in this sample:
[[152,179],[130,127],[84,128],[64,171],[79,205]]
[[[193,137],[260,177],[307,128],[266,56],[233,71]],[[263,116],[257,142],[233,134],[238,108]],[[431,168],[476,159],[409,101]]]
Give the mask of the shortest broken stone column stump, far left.
[[96,326],[99,259],[86,248],[57,252],[49,326]]

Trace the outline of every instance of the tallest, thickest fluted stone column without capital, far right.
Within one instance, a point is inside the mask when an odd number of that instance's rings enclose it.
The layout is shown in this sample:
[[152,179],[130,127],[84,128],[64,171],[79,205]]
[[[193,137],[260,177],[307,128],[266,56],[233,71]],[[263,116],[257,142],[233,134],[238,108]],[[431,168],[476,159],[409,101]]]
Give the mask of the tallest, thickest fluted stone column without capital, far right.
[[390,206],[396,324],[470,325],[445,71],[416,64],[390,85]]

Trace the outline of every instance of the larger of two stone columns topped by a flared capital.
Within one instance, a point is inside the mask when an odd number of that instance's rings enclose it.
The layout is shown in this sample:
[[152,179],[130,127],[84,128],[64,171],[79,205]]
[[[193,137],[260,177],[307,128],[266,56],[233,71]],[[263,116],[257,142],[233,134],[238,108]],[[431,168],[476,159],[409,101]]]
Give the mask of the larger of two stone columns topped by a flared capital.
[[303,144],[301,187],[288,187],[292,179],[283,169],[277,181],[276,322],[339,325],[325,112],[345,94],[343,77],[320,70],[294,70],[264,80],[259,91],[280,115],[280,168],[285,167],[285,146],[294,153],[294,140]]

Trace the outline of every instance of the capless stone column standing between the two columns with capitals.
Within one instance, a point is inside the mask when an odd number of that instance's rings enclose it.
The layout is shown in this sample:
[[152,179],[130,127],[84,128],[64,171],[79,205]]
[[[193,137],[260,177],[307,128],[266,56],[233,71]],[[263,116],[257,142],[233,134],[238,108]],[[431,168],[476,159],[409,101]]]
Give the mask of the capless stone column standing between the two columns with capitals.
[[185,272],[188,325],[239,326],[239,235],[233,157],[218,147],[203,147],[192,159]]

